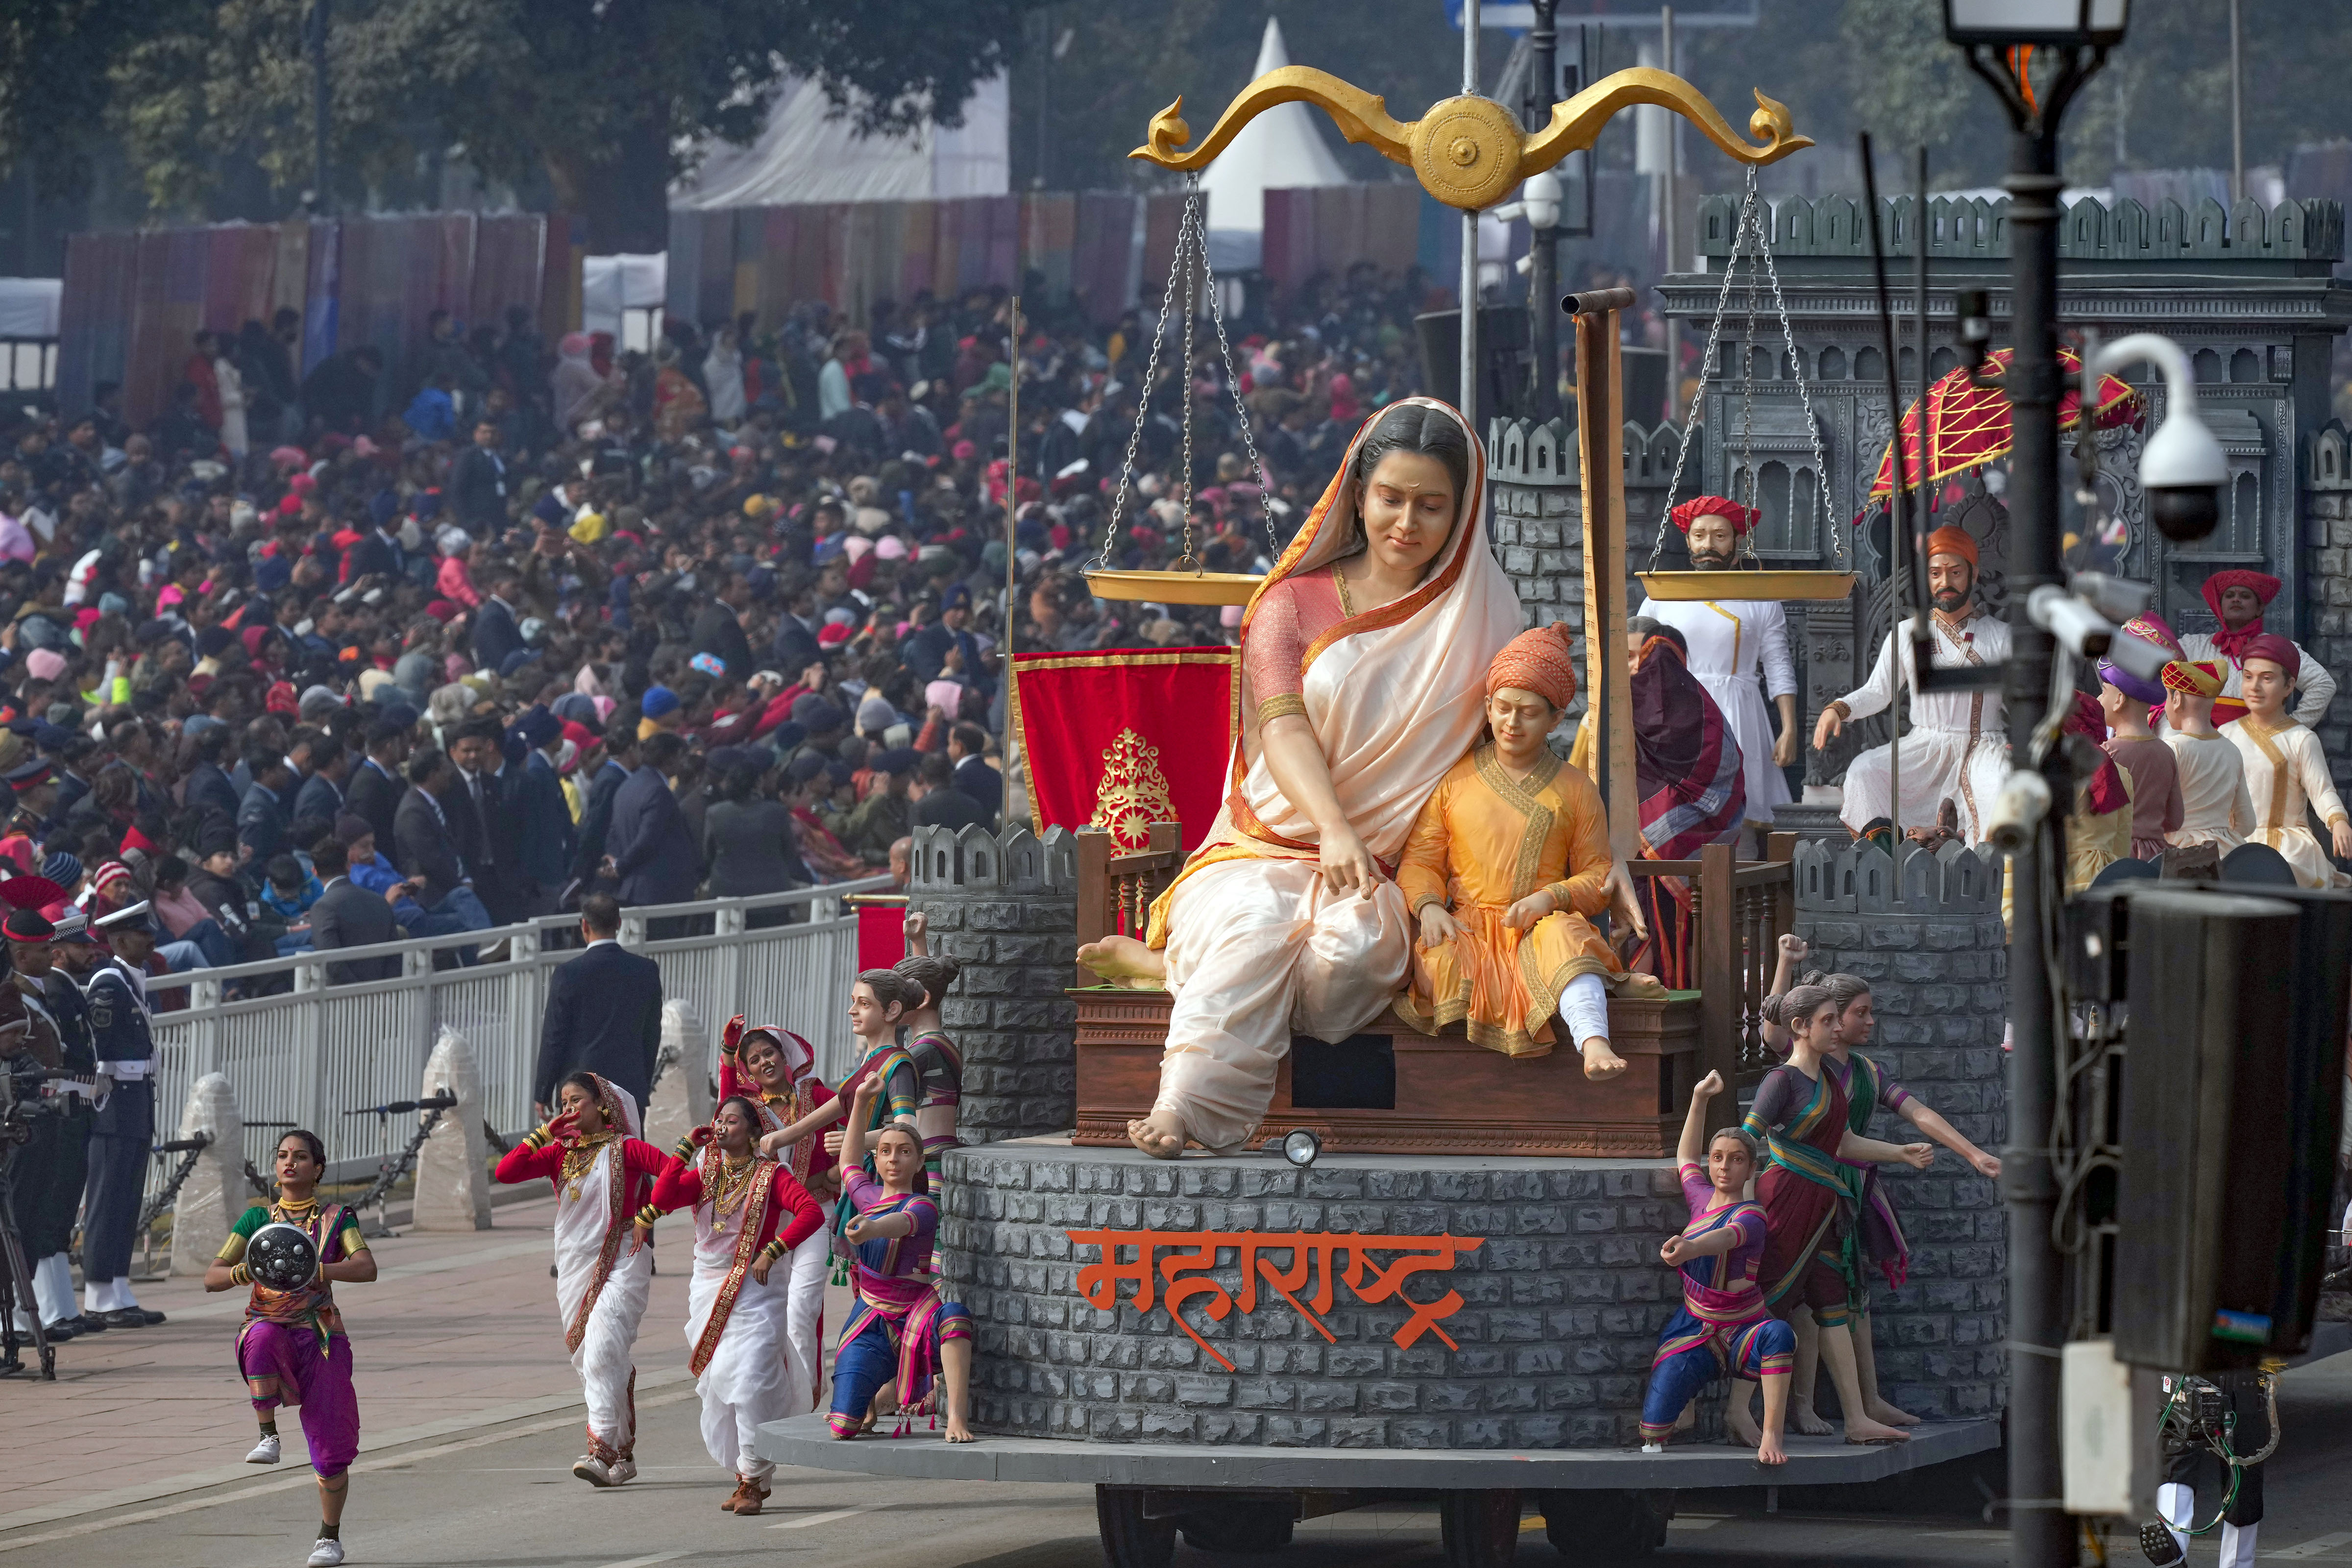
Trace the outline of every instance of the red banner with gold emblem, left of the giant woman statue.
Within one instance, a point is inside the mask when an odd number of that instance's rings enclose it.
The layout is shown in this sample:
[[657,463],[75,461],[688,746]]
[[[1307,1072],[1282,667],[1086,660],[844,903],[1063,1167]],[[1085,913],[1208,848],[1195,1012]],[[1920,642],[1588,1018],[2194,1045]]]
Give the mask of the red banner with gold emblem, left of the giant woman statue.
[[1185,851],[1209,835],[1232,752],[1232,649],[1018,654],[1014,698],[1037,832],[1091,825],[1145,849],[1150,825],[1174,820]]

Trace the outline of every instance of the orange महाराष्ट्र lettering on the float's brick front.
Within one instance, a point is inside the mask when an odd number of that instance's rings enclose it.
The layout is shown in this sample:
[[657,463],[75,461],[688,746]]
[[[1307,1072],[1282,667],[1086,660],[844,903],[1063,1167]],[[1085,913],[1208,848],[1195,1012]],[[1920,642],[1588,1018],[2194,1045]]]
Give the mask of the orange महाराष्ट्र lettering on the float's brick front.
[[[1477,1237],[1334,1237],[1322,1232],[1258,1234],[1254,1229],[1073,1229],[1073,1246],[1101,1251],[1096,1262],[1077,1272],[1077,1293],[1098,1312],[1120,1307],[1120,1286],[1131,1284],[1129,1305],[1136,1312],[1167,1307],[1169,1319],[1209,1352],[1228,1373],[1228,1361],[1185,1321],[1183,1307],[1200,1302],[1202,1316],[1223,1324],[1240,1307],[1258,1309],[1258,1286],[1289,1302],[1291,1312],[1315,1326],[1324,1340],[1338,1342],[1324,1314],[1331,1312],[1338,1286],[1355,1300],[1378,1307],[1395,1300],[1406,1316],[1392,1335],[1411,1349],[1423,1333],[1437,1335],[1446,1349],[1461,1349],[1439,1324],[1461,1312],[1463,1298],[1446,1291],[1435,1300],[1414,1300],[1404,1281],[1414,1274],[1442,1274],[1458,1253],[1479,1248]],[[1235,1255],[1237,1288],[1211,1276],[1223,1253]]]

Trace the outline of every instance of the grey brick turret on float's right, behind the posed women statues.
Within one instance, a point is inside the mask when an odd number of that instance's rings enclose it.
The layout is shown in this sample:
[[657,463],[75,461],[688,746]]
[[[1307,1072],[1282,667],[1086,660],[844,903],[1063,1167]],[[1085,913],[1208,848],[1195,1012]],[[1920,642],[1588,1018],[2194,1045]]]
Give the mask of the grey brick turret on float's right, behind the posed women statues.
[[[1959,844],[1938,856],[1907,844],[1900,872],[1867,844],[1797,849],[1797,936],[1813,945],[1811,966],[1870,980],[1877,1034],[1865,1056],[1992,1154],[2009,1135],[1999,872]],[[1917,1140],[1889,1114],[1872,1135]],[[1947,1150],[1926,1171],[1879,1166],[1879,1180],[1912,1248],[1900,1291],[1872,1279],[1879,1389],[1929,1420],[1999,1413],[2009,1227],[1997,1185]]]

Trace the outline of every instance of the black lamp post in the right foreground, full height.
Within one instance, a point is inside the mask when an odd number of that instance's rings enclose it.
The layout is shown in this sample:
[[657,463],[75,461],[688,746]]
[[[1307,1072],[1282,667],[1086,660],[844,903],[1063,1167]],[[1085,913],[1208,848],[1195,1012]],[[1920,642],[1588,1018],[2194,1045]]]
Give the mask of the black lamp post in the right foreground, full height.
[[[2084,2],[2089,12],[2089,0]],[[1950,9],[1945,12],[1950,16]],[[2098,71],[2100,42],[2063,42],[2049,52],[2058,71],[2030,94],[2009,54],[1964,42],[1969,68],[1992,85],[2013,127],[2009,143],[2009,329],[2013,355],[2009,390],[2009,757],[2034,766],[2032,731],[2049,705],[2051,635],[2027,614],[2042,583],[2063,583],[2058,534],[2058,120],[2067,101]],[[1922,348],[1922,374],[1926,367]],[[2074,780],[2065,748],[2039,762],[2051,799],[2072,802]],[[2058,1347],[2065,1340],[2065,1260],[2051,1246],[2058,1185],[2051,1175],[2049,1128],[2056,1105],[2056,994],[2044,964],[2044,891],[2065,865],[2065,804],[2034,830],[2027,851],[2011,856],[2009,926],[2009,1147],[2002,1150],[2002,1197],[2009,1208],[2009,1561],[2013,1568],[2072,1568],[2074,1521],[2063,1507]]]

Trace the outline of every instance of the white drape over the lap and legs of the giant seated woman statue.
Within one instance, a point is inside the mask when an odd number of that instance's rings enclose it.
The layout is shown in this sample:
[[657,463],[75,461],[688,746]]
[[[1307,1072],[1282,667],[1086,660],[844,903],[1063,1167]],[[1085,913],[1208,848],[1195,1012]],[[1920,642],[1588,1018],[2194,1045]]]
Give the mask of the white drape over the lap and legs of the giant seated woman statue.
[[1331,893],[1312,860],[1223,860],[1169,905],[1169,1053],[1160,1105],[1232,1147],[1265,1114],[1291,1034],[1341,1041],[1404,985],[1411,922],[1395,882]]

